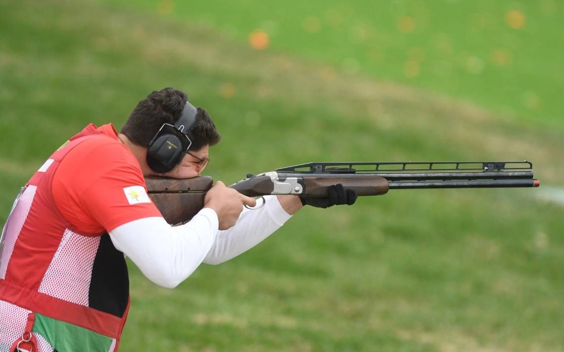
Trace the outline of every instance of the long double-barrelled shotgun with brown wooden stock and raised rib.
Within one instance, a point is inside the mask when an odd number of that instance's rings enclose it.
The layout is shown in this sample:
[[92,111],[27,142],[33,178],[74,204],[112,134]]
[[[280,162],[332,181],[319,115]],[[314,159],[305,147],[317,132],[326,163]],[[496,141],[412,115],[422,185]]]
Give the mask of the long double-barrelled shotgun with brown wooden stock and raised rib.
[[[170,224],[186,222],[204,206],[213,186],[210,176],[169,179],[148,176],[149,197]],[[538,187],[532,163],[524,162],[359,162],[306,163],[247,177],[230,188],[250,197],[268,194],[327,196],[328,186],[342,184],[359,196],[390,189]]]

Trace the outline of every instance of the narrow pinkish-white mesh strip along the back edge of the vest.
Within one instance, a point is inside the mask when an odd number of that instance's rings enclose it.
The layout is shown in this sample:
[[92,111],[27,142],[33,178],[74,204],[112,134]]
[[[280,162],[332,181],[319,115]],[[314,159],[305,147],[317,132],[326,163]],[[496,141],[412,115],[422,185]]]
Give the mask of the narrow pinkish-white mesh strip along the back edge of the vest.
[[2,253],[0,253],[0,279],[6,278],[8,261],[10,261],[10,257],[14,251],[17,236],[20,234],[21,228],[24,226],[25,219],[28,217],[29,209],[32,207],[36,190],[37,186],[27,186],[20,195],[14,211],[12,211],[12,214],[7,220],[4,249]]

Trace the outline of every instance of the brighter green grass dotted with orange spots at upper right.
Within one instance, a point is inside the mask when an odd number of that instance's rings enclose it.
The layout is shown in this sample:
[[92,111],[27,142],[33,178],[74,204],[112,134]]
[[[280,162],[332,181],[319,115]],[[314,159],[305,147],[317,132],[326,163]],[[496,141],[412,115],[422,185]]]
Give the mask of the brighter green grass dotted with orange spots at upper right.
[[555,0],[107,2],[242,43],[264,33],[271,51],[563,127],[564,6]]

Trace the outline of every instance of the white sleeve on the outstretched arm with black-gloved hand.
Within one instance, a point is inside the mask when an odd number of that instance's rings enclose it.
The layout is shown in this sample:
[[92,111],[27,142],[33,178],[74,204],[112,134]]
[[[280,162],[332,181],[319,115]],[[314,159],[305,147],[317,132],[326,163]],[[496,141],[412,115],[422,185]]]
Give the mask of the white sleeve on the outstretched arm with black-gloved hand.
[[[205,257],[206,264],[220,264],[254,247],[280,228],[291,215],[280,205],[276,195],[264,197],[264,206],[245,208],[235,226],[218,231],[215,243]],[[260,200],[257,201],[260,204]]]

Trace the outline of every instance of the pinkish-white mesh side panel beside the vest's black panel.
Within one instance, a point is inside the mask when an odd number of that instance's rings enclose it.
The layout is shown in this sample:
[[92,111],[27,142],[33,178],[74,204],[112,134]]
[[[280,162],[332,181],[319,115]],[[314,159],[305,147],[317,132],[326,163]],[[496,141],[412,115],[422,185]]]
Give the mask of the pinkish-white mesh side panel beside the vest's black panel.
[[99,244],[100,237],[86,237],[65,230],[38,291],[88,306],[92,264]]

